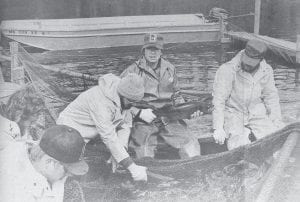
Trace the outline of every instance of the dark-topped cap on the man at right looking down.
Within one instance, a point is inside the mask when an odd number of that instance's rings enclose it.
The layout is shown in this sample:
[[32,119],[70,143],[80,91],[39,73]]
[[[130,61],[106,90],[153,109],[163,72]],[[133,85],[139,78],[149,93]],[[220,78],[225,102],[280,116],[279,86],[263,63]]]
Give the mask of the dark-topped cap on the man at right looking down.
[[267,46],[264,42],[256,39],[249,40],[242,54],[242,62],[250,66],[256,66],[264,58],[266,50]]

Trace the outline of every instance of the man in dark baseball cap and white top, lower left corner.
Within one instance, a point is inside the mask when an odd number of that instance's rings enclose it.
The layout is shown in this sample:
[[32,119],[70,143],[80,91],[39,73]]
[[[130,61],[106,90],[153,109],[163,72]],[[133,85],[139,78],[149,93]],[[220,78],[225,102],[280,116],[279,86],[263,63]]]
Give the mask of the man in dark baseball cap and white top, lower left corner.
[[10,142],[0,151],[1,201],[63,201],[67,176],[83,175],[85,142],[75,129],[48,128],[39,144]]

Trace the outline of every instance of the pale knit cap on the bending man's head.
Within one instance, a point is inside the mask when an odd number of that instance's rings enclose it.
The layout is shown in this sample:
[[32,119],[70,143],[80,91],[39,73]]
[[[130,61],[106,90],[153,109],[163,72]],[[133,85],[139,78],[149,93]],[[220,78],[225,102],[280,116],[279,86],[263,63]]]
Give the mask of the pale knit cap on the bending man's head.
[[137,74],[129,73],[121,79],[117,91],[129,100],[140,101],[144,97],[144,81]]

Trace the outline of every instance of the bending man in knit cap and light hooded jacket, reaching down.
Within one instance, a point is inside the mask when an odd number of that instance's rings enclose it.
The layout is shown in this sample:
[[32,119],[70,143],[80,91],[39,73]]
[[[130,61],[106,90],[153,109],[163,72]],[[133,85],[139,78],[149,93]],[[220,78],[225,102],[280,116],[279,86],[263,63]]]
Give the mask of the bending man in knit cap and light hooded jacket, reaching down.
[[146,168],[136,165],[126,151],[132,127],[129,109],[143,96],[143,81],[137,74],[122,79],[106,74],[97,86],[81,93],[60,113],[57,124],[77,129],[86,142],[100,136],[112,162],[127,168],[134,180],[147,181]]

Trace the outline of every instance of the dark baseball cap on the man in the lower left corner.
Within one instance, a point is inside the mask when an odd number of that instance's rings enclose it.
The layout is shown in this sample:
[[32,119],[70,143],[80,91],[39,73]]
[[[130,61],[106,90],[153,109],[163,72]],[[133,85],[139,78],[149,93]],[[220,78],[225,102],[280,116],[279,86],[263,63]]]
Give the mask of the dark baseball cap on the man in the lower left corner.
[[85,142],[80,133],[66,125],[48,128],[39,143],[41,149],[74,175],[88,172],[88,164],[82,159]]

